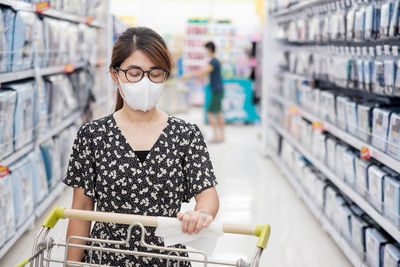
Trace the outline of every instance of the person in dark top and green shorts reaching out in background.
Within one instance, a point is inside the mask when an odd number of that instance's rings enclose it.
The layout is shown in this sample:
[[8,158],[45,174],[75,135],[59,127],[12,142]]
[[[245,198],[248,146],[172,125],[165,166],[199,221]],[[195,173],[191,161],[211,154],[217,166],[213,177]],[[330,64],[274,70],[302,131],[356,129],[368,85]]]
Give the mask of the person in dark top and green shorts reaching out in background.
[[202,77],[210,75],[211,101],[208,107],[207,117],[213,128],[214,137],[210,143],[221,143],[225,141],[225,119],[222,114],[222,98],[224,97],[224,86],[222,84],[221,63],[215,56],[215,44],[207,42],[205,45],[210,62],[203,69],[187,73],[182,76],[184,80],[191,77]]

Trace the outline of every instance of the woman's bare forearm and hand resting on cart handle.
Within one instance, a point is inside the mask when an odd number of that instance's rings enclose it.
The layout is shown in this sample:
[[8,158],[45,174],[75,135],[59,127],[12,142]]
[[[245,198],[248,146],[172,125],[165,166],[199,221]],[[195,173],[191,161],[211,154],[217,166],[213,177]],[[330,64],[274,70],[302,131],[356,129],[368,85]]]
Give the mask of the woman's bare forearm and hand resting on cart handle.
[[199,233],[202,228],[207,228],[214,220],[219,209],[219,199],[215,187],[204,190],[195,197],[194,211],[179,212],[177,218],[182,221],[182,232]]

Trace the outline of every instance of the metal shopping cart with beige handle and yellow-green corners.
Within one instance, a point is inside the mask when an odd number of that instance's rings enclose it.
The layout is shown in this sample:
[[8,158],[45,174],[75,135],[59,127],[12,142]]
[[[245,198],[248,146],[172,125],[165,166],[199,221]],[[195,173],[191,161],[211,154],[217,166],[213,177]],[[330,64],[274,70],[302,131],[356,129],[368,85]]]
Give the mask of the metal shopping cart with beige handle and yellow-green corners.
[[[59,219],[78,219],[85,221],[98,221],[98,222],[106,222],[106,223],[119,223],[129,225],[127,229],[127,238],[126,240],[121,241],[113,241],[113,240],[102,240],[102,239],[94,239],[87,237],[78,237],[78,236],[70,236],[65,243],[56,242],[51,237],[48,237],[50,230],[57,224]],[[86,249],[89,255],[92,255],[94,251],[98,251],[100,253],[120,253],[125,255],[136,255],[139,257],[151,257],[151,258],[161,258],[167,260],[167,266],[170,266],[172,261],[178,262],[178,266],[180,262],[198,262],[204,263],[204,266],[208,264],[217,264],[223,266],[240,266],[240,267],[255,267],[258,266],[259,260],[263,250],[266,248],[269,235],[270,235],[270,226],[269,225],[240,225],[240,224],[231,224],[224,223],[223,224],[223,232],[229,234],[243,234],[243,235],[255,235],[259,237],[257,243],[257,250],[252,258],[251,262],[245,262],[242,259],[237,260],[236,262],[228,262],[228,261],[217,261],[213,259],[209,259],[204,252],[199,252],[195,250],[189,249],[180,249],[180,248],[172,248],[172,247],[160,247],[149,245],[145,242],[144,236],[146,230],[144,226],[149,227],[157,227],[157,217],[150,216],[140,216],[140,215],[131,215],[131,214],[118,214],[118,213],[107,213],[107,212],[97,212],[97,211],[83,211],[83,210],[74,210],[74,209],[66,209],[61,208],[59,206],[55,206],[53,210],[49,213],[47,218],[42,224],[42,228],[38,235],[34,240],[32,256],[18,264],[16,267],[25,266],[30,263],[30,266],[35,267],[45,267],[50,266],[50,263],[58,263],[62,266],[79,266],[79,267],[100,267],[105,266],[102,265],[101,262],[98,264],[89,264],[82,262],[73,262],[67,261],[67,251],[68,248],[81,248]],[[168,254],[157,254],[157,253],[149,253],[149,252],[139,252],[139,251],[130,251],[130,250],[121,250],[121,249],[113,249],[113,248],[105,248],[101,246],[101,244],[119,244],[125,245],[129,244],[132,229],[134,227],[139,227],[141,230],[141,245],[147,247],[149,249],[163,250],[167,251]],[[78,245],[71,243],[72,240],[84,240],[91,242],[91,244],[100,244],[100,246],[93,245]],[[54,247],[65,248],[65,254],[63,259],[53,259],[51,258],[51,251]],[[180,256],[180,253],[191,253],[200,255],[200,257],[184,257]],[[58,265],[58,266],[59,266]]]

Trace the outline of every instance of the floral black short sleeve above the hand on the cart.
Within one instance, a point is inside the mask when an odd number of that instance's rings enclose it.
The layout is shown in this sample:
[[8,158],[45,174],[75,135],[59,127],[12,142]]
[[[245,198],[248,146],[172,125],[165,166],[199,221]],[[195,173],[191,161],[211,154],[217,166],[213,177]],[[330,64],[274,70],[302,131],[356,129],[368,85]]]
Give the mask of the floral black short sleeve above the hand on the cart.
[[203,135],[197,125],[193,128],[184,158],[184,202],[218,184]]

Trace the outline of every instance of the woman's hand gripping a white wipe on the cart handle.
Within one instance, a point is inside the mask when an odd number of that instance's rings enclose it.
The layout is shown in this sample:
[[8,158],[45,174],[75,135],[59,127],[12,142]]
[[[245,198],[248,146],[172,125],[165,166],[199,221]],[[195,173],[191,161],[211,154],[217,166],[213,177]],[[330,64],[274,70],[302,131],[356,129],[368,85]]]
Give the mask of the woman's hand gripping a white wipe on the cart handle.
[[214,218],[204,211],[186,211],[185,213],[179,212],[176,216],[178,220],[182,221],[182,232],[189,235],[198,234],[201,229],[207,228]]

